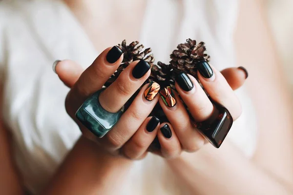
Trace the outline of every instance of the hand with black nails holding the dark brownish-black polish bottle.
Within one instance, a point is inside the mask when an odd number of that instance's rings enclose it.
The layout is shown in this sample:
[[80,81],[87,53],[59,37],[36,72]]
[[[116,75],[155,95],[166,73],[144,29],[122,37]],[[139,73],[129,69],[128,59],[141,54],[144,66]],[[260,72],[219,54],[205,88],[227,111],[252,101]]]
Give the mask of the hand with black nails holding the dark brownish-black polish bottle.
[[[234,71],[234,74],[231,75],[231,71]],[[241,105],[232,88],[235,89],[242,85],[247,77],[247,72],[242,68],[231,68],[222,72],[226,79],[219,71],[205,62],[199,68],[198,78],[210,98],[226,107],[235,120],[241,115]],[[172,90],[172,104],[167,103],[168,98],[166,101],[160,99],[160,105],[170,121],[170,123],[161,124],[161,131],[158,131],[161,154],[166,158],[177,157],[183,150],[195,152],[207,143],[206,139],[194,127],[194,121],[207,120],[215,109],[198,81],[191,75],[182,74],[176,79],[175,86],[180,97],[188,106],[192,118],[189,117],[188,111],[174,90]]]

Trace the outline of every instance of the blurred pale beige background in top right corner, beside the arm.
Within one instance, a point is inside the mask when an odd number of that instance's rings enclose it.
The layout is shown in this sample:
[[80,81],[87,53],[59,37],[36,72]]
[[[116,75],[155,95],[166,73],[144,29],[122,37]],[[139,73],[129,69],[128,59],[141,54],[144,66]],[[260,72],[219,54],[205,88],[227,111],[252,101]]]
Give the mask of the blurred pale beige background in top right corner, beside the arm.
[[276,50],[291,85],[293,96],[293,0],[266,0],[266,6]]

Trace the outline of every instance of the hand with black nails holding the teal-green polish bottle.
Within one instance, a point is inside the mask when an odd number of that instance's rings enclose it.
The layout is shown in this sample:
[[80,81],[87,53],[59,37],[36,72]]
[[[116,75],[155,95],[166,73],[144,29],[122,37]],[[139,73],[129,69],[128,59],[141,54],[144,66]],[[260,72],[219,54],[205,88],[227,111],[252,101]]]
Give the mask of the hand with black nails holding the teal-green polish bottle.
[[[96,137],[75,117],[75,113],[86,98],[102,89],[122,60],[122,51],[114,46],[101,53],[84,72],[80,65],[71,60],[59,61],[54,70],[59,78],[71,88],[65,100],[65,108],[70,117],[79,125],[83,136],[95,141],[113,155],[119,155],[122,151],[123,155],[128,158],[139,159],[146,155],[146,150],[156,137],[159,127],[157,118],[148,117],[159,98],[159,96],[155,96],[152,100],[145,98],[148,84],[142,87],[116,125],[102,138]],[[132,62],[101,93],[100,104],[108,112],[116,113],[142,86],[149,75],[150,66],[146,61]],[[159,92],[159,89],[156,92]],[[149,125],[146,128],[147,124]],[[122,147],[123,150],[120,150]]]

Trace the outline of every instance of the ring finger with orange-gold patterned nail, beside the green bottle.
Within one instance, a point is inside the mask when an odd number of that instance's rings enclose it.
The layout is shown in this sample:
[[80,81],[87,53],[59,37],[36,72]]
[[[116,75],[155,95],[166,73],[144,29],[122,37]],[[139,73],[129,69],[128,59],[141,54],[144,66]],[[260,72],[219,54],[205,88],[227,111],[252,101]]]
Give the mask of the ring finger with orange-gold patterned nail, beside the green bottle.
[[107,148],[112,150],[121,148],[135,134],[153,110],[159,97],[155,96],[151,101],[145,98],[145,91],[149,90],[149,85],[151,84],[146,84],[141,89],[117,124],[105,137],[101,138]]

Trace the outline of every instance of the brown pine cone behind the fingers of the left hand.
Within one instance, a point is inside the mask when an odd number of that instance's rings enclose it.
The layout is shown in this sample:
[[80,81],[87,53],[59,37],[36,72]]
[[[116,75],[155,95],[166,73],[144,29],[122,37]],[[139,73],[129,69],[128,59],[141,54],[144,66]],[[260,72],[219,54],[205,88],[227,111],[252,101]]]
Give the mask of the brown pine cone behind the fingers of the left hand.
[[117,71],[107,80],[105,87],[112,84],[120,75],[120,73],[133,61],[144,59],[149,63],[150,66],[153,65],[155,59],[153,54],[151,54],[151,49],[146,48],[143,52],[144,45],[139,45],[138,41],[133,41],[129,45],[126,45],[126,40],[123,40],[121,44],[117,45],[123,51],[123,61],[118,67]]

